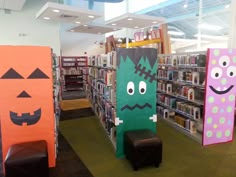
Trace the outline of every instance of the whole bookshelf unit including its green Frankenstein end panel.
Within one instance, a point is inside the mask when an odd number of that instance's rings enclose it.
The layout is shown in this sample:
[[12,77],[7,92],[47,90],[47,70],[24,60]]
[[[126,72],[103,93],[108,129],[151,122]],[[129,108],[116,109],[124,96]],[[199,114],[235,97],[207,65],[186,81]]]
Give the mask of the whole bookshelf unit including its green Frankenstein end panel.
[[118,49],[89,57],[87,96],[112,144],[124,157],[129,130],[156,132],[156,49]]

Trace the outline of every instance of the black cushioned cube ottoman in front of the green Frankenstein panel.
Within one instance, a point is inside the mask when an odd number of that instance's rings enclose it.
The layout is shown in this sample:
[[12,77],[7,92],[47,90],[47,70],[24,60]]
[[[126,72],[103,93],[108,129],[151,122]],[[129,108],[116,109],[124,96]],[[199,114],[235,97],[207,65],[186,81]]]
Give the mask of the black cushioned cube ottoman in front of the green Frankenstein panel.
[[124,151],[134,170],[143,165],[159,167],[162,161],[162,141],[147,129],[125,132]]

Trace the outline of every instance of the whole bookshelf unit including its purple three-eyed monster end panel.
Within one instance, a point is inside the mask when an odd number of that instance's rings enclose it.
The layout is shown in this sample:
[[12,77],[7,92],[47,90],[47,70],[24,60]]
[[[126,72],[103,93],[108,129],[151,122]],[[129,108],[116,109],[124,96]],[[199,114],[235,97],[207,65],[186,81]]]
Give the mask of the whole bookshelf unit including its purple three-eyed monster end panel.
[[202,145],[233,139],[236,49],[159,55],[157,112]]

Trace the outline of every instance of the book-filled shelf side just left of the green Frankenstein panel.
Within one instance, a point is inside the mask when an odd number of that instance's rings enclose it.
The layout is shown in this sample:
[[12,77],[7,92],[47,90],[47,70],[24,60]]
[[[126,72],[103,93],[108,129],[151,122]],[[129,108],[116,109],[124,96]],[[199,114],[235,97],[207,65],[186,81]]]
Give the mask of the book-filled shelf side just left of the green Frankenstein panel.
[[88,67],[87,97],[116,148],[116,52],[90,56]]

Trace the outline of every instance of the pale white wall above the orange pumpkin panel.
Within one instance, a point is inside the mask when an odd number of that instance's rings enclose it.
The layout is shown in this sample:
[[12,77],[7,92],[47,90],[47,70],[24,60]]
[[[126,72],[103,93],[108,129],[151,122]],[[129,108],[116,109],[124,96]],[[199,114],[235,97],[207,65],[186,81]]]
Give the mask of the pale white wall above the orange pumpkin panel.
[[45,0],[27,0],[21,11],[10,14],[1,9],[0,45],[50,46],[60,55],[59,24],[35,18],[45,3]]

